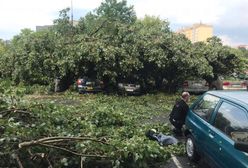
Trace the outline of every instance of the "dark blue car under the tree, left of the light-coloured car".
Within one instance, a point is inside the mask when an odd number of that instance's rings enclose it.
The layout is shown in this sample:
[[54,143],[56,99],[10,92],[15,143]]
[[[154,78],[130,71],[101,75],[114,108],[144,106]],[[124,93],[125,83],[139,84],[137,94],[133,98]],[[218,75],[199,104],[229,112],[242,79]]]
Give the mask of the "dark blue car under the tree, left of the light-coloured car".
[[79,93],[101,92],[103,91],[103,88],[103,82],[97,79],[84,77],[77,80],[77,89]]

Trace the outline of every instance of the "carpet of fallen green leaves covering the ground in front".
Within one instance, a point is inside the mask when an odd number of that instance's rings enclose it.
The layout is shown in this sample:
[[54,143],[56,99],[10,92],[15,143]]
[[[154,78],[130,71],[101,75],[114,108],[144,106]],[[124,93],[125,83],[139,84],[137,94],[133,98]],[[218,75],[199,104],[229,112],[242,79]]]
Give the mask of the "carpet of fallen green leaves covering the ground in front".
[[[48,140],[49,137],[58,137],[57,147],[85,155],[106,156],[101,160],[110,167],[150,167],[168,159],[172,152],[182,152],[181,146],[161,147],[157,142],[145,137],[145,132],[151,128],[170,134],[169,127],[163,124],[166,121],[154,121],[152,118],[154,115],[167,116],[171,107],[164,102],[174,102],[175,99],[176,96],[163,94],[118,97],[72,93],[37,98],[25,96],[22,98],[25,101],[17,99],[14,107],[10,102],[6,102],[0,113],[5,114],[4,111],[8,109],[11,113],[0,118],[0,124],[4,125],[2,131],[0,130],[0,149],[6,152],[6,162],[1,162],[0,166],[10,166],[8,163],[12,154],[20,157],[23,166],[35,166],[41,164],[41,161],[32,158],[42,153],[43,158],[47,157],[54,167],[78,167],[79,156],[68,155],[59,148],[50,148],[54,138]],[[62,143],[59,137],[72,138],[75,141]],[[78,141],[77,137],[88,137],[103,143]],[[32,140],[42,138],[48,140],[50,147],[39,146],[37,143],[18,150],[18,144],[27,144],[24,143],[27,141],[32,144],[37,142]],[[90,167],[92,162],[97,163],[97,156],[86,156],[84,165]],[[47,164],[47,161],[43,163]]]

